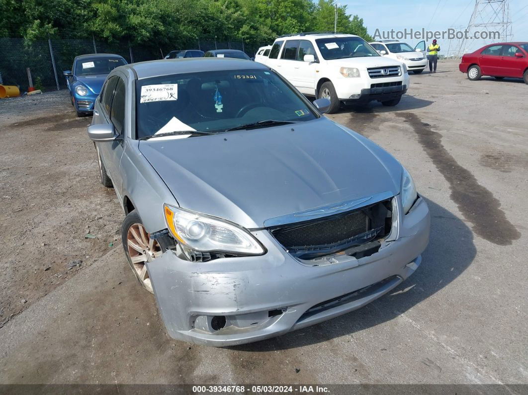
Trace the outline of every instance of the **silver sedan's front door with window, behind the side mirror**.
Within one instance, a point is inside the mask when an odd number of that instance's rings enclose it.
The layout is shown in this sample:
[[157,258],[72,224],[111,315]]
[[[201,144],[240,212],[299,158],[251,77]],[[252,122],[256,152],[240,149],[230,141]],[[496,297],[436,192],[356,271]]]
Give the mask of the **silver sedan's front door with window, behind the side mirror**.
[[125,81],[121,76],[113,75],[107,81],[103,91],[101,105],[98,107],[100,111],[97,111],[98,123],[111,123],[114,125],[116,135],[118,136],[111,142],[96,143],[106,171],[118,193],[120,193],[122,182],[121,176],[119,175],[119,162],[124,151],[125,99]]

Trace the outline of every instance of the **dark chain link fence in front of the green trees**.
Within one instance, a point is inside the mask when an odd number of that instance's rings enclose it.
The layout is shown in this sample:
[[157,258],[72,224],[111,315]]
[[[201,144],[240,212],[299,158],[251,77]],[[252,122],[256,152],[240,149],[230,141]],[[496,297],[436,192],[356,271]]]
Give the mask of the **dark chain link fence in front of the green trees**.
[[128,42],[108,43],[95,38],[50,38],[41,41],[26,41],[24,38],[0,37],[0,84],[16,85],[21,92],[29,87],[31,79],[35,89],[60,90],[66,88],[62,74],[71,70],[73,59],[88,53],[114,53],[127,62],[143,62],[163,59],[173,50],[199,49],[204,52],[214,49],[233,49],[246,52],[254,57],[260,44],[242,41],[216,41],[197,39],[195,43],[185,43],[186,47],[154,48],[130,45]]

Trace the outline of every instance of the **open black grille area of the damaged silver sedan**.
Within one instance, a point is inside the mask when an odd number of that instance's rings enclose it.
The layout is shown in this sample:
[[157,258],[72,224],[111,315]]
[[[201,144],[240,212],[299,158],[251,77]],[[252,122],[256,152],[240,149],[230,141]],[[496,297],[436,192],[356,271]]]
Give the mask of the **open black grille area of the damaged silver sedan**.
[[391,210],[388,199],[345,213],[268,229],[290,254],[312,259],[388,234],[392,222],[387,218]]

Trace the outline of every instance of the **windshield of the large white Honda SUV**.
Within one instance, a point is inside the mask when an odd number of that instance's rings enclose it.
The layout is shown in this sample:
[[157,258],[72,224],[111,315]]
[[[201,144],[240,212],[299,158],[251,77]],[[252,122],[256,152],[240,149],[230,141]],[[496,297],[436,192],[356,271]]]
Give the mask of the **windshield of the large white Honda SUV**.
[[315,40],[324,59],[345,59],[346,57],[380,56],[361,37],[329,37]]

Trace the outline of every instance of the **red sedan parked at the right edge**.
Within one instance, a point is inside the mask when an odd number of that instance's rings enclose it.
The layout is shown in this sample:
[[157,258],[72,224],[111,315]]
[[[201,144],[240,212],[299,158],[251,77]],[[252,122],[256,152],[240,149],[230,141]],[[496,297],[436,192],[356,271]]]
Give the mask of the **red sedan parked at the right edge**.
[[528,43],[498,43],[483,46],[462,56],[458,69],[476,81],[483,75],[497,80],[504,77],[523,78],[528,84]]

